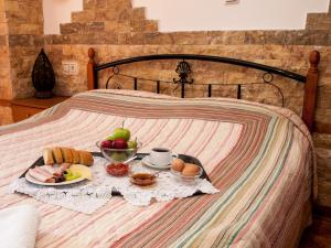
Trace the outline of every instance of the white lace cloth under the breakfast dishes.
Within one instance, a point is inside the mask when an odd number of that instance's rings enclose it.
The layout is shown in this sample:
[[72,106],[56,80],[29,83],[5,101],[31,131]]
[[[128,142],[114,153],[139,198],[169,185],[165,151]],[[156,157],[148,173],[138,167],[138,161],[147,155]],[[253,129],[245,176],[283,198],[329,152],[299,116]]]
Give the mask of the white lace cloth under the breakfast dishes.
[[68,209],[92,214],[105,205],[111,197],[111,191],[119,192],[124,198],[136,206],[148,206],[151,200],[158,202],[183,198],[201,191],[206,194],[218,192],[207,180],[199,179],[186,184],[173,177],[169,171],[160,172],[158,183],[150,187],[139,187],[129,182],[128,176],[115,177],[106,173],[104,158],[95,157],[93,181],[83,181],[66,186],[40,186],[18,179],[10,185],[10,192],[19,192],[38,201],[58,205]]

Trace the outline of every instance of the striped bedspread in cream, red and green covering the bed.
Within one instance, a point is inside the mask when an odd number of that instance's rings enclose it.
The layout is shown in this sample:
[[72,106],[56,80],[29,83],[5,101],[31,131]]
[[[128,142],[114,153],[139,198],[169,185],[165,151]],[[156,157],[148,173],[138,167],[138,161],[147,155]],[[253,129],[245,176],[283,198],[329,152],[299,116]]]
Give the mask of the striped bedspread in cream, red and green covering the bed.
[[[93,215],[8,194],[44,147],[97,151],[95,142],[124,120],[141,152],[167,147],[196,157],[220,193],[148,207],[113,197]],[[0,128],[0,208],[39,208],[36,247],[295,247],[308,222],[313,166],[309,132],[290,110],[94,90]]]

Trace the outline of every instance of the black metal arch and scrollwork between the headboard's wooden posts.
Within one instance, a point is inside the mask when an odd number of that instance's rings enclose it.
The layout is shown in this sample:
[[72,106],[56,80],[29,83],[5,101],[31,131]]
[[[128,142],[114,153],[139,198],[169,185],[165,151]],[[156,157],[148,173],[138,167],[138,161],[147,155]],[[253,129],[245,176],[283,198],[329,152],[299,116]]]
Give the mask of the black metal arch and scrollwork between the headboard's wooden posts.
[[[138,76],[132,76],[128,74],[120,73],[119,66],[120,65],[126,65],[126,64],[132,64],[132,63],[139,63],[139,62],[151,62],[151,61],[181,61],[179,65],[177,66],[177,73],[179,75],[178,79],[173,78],[173,80],[160,80],[160,79],[154,79],[154,78],[142,78]],[[221,64],[228,64],[228,65],[235,65],[235,66],[242,66],[245,68],[252,68],[252,69],[257,69],[260,72],[264,72],[264,75],[261,77],[260,82],[253,82],[253,83],[237,83],[237,84],[227,84],[227,83],[222,83],[222,84],[193,84],[193,79],[189,79],[190,74],[192,73],[192,68],[190,64],[186,61],[203,61],[203,62],[213,62],[213,63],[221,63]],[[297,83],[306,83],[307,77],[302,76],[300,74],[290,72],[290,71],[285,71],[278,67],[274,66],[268,66],[264,64],[258,64],[255,62],[249,62],[249,61],[242,61],[237,58],[232,58],[232,57],[222,57],[222,56],[211,56],[211,55],[201,55],[201,54],[152,54],[152,55],[142,55],[142,56],[136,56],[136,57],[128,57],[128,58],[122,58],[100,65],[95,65],[93,67],[94,69],[94,76],[95,76],[95,85],[98,85],[98,73],[100,71],[104,71],[106,68],[113,68],[113,75],[110,75],[106,82],[106,87],[109,87],[111,78],[116,75],[120,75],[124,77],[132,78],[132,88],[138,89],[139,88],[139,80],[149,80],[153,82],[157,86],[157,93],[160,93],[160,85],[161,84],[175,84],[177,86],[181,86],[181,96],[185,97],[185,86],[186,85],[200,85],[200,86],[206,86],[207,90],[207,96],[212,97],[213,96],[213,89],[215,88],[215,85],[217,86],[236,86],[237,88],[237,98],[241,99],[243,96],[243,90],[245,90],[246,87],[252,86],[252,85],[268,85],[277,89],[281,97],[281,104],[284,106],[284,94],[281,89],[274,84],[274,75],[278,75],[285,78],[293,79]],[[116,85],[117,87],[121,87],[119,83]],[[175,87],[177,89],[177,87]]]

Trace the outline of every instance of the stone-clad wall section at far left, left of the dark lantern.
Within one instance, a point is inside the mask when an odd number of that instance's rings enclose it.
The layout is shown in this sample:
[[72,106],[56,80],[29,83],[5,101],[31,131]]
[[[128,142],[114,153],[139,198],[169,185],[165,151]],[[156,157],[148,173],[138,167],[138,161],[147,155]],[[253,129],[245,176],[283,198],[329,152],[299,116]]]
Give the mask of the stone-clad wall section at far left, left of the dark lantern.
[[[0,98],[32,96],[32,66],[44,45],[42,0],[0,0]],[[0,125],[11,116],[0,106]]]

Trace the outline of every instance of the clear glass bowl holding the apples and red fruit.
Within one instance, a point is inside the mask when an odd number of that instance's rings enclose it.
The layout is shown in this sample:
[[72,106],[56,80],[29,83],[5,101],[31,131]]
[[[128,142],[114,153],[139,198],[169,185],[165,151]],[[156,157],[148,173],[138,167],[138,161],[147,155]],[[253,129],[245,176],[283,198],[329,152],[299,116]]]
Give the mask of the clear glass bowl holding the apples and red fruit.
[[141,143],[138,142],[137,148],[127,148],[127,149],[116,149],[116,148],[103,148],[103,141],[97,141],[96,145],[100,149],[103,155],[110,161],[111,163],[121,163],[126,160],[131,159],[137,154],[138,149],[141,147]]

